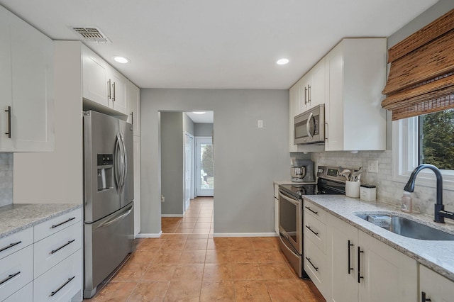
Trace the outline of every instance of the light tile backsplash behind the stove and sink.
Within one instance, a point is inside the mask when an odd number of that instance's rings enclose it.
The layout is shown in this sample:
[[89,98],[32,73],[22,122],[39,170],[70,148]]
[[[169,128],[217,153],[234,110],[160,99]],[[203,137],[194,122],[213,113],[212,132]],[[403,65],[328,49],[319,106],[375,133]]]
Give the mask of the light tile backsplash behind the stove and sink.
[[[405,184],[392,180],[392,151],[314,152],[311,154],[311,160],[317,166],[362,167],[364,172],[361,176],[361,183],[377,186],[377,200],[400,206]],[[367,172],[369,160],[378,160],[378,173]],[[436,188],[415,186],[411,197],[414,211],[433,215]],[[446,210],[454,211],[454,191],[443,190],[443,203]]]

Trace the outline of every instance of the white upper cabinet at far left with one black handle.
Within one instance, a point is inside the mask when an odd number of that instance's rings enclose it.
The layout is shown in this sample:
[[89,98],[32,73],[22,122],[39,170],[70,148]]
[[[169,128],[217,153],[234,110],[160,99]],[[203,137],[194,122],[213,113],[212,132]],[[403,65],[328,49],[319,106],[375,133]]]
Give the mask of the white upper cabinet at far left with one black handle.
[[0,6],[0,152],[54,150],[53,41]]

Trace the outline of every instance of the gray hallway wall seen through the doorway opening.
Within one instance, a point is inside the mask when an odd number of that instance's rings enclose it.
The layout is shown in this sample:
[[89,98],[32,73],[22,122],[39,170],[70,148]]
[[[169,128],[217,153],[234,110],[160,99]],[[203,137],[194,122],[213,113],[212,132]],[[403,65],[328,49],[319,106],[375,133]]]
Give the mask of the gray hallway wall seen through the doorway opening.
[[183,113],[161,112],[161,214],[183,214]]

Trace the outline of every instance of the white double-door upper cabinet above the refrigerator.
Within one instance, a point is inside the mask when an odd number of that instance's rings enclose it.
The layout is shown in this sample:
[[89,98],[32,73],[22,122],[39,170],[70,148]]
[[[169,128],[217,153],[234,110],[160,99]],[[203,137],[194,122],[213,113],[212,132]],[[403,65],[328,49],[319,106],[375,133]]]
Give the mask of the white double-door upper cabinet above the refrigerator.
[[99,111],[127,115],[126,85],[128,79],[82,46],[82,97]]

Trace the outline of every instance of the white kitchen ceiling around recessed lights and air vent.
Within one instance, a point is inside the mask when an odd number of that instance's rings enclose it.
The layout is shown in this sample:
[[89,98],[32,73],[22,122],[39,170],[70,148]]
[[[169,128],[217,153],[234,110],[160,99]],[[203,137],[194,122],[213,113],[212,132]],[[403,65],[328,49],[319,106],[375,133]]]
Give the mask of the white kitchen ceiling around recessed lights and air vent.
[[[387,37],[437,0],[0,0],[54,40],[87,44],[140,88],[288,89],[343,37]],[[123,55],[120,65],[111,60]],[[288,65],[275,61],[288,57]]]

